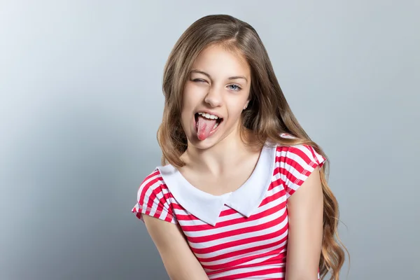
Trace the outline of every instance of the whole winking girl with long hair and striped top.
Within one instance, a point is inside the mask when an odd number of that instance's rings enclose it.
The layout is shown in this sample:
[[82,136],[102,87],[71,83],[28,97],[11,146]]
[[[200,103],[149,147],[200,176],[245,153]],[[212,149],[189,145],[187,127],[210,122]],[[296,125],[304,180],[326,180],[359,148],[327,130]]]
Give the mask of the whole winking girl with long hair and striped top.
[[253,27],[193,23],[163,80],[162,166],[132,209],[173,280],[339,279],[327,157],[300,127]]

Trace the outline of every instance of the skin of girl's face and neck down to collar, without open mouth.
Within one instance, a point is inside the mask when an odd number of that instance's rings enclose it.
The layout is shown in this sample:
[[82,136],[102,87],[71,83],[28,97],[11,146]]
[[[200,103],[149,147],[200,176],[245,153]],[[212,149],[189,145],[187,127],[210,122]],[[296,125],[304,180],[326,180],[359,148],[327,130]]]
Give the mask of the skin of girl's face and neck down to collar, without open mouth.
[[[196,188],[212,195],[229,193],[253,172],[260,148],[245,146],[239,137],[241,113],[248,104],[250,87],[251,69],[246,61],[221,46],[209,46],[193,64],[183,90],[181,123],[188,148],[181,157],[186,165],[179,171]],[[195,125],[195,113],[200,111],[211,111],[223,118],[216,132],[204,140],[198,139]]]

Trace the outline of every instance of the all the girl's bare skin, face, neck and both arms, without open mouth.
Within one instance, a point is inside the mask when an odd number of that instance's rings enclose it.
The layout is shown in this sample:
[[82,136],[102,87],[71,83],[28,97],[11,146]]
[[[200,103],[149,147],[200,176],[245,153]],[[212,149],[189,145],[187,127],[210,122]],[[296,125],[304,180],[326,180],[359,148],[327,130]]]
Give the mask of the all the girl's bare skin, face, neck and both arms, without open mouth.
[[[248,179],[260,155],[260,147],[245,146],[239,137],[241,112],[248,104],[251,70],[237,53],[219,45],[204,49],[192,69],[183,89],[181,124],[188,138],[188,148],[181,156],[186,166],[179,171],[193,186],[207,193],[229,193]],[[212,111],[223,118],[218,130],[204,140],[197,138],[195,127],[195,113],[200,111]],[[287,280],[316,279],[322,203],[321,181],[316,169],[288,200]],[[208,279],[179,225],[147,215],[144,222],[172,280]]]

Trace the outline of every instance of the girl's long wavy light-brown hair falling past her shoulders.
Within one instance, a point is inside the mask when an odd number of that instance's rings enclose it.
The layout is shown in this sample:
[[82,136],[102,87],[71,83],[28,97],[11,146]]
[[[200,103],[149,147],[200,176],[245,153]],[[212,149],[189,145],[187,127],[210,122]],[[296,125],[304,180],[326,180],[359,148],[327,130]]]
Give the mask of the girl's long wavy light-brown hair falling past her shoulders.
[[[245,130],[253,133],[261,146],[267,139],[284,146],[307,144],[326,159],[320,169],[323,189],[323,241],[319,269],[323,279],[330,272],[330,279],[339,279],[344,263],[345,246],[338,237],[338,203],[328,187],[329,160],[320,146],[311,141],[297,122],[276,79],[260,37],[251,25],[230,15],[207,15],[200,18],[181,35],[165,64],[162,90],[165,108],[158,129],[158,143],[162,149],[162,165],[170,163],[182,167],[181,155],[188,141],[181,126],[183,87],[193,62],[204,48],[218,44],[226,50],[239,53],[251,69],[250,102],[242,112],[241,138],[246,142]],[[294,139],[280,137],[282,132]],[[347,252],[348,253],[348,252]]]

